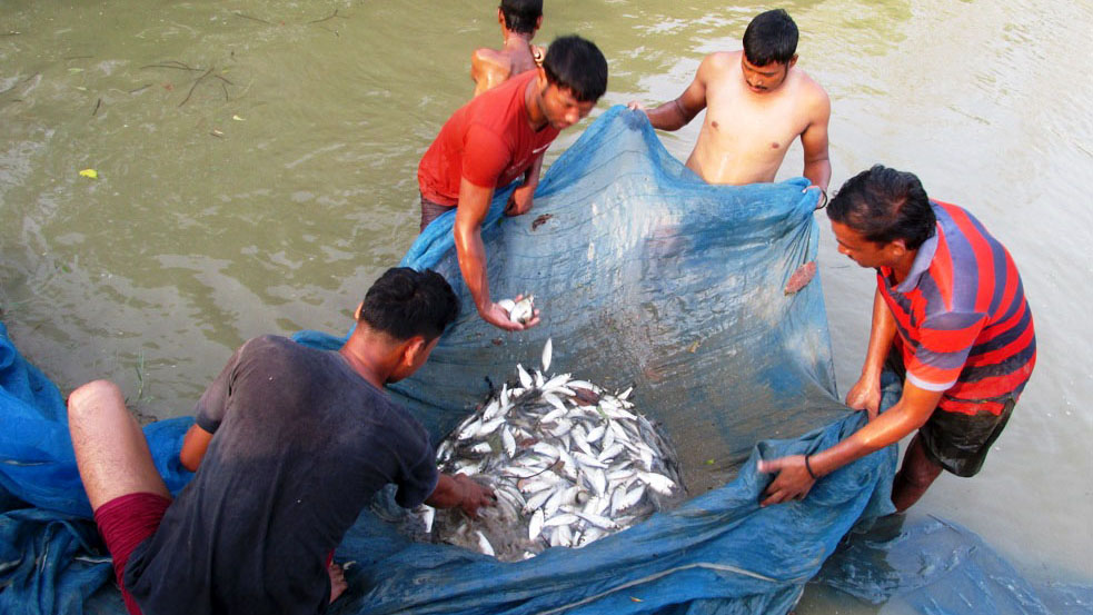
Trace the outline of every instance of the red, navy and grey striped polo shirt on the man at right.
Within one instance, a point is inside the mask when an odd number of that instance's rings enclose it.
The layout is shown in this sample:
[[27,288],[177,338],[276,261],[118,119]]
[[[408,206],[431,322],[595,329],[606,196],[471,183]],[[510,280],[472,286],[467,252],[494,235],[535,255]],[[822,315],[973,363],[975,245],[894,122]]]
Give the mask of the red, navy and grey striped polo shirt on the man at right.
[[963,208],[931,201],[937,232],[915,255],[907,278],[877,270],[896,321],[907,380],[945,391],[951,413],[1002,411],[1036,363],[1032,311],[1010,252]]

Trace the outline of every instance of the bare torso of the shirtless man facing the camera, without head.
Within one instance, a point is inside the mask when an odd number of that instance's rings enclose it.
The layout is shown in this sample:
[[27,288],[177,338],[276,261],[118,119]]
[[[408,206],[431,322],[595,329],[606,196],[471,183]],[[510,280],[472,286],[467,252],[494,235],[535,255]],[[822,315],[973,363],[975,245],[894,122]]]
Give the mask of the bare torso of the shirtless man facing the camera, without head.
[[[687,167],[709,183],[774,181],[789,145],[799,136],[808,176],[809,158],[827,159],[827,93],[795,67],[787,69],[777,88],[755,91],[744,77],[743,56],[743,51],[713,53],[699,66],[695,83],[705,90],[706,119]],[[829,170],[823,175],[809,179],[826,189]]]

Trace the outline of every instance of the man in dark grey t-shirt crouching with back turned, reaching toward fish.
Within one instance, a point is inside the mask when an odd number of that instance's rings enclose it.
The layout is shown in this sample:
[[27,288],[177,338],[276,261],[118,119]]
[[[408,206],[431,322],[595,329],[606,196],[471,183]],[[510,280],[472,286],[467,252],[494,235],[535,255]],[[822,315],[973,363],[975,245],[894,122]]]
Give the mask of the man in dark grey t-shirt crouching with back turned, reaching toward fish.
[[321,613],[345,589],[329,555],[384,485],[474,515],[489,489],[441,475],[428,433],[384,393],[417,370],[458,307],[433,271],[390,269],[337,353],[244,344],[197,404],[171,500],[120,391],[69,398],[80,475],[130,613]]

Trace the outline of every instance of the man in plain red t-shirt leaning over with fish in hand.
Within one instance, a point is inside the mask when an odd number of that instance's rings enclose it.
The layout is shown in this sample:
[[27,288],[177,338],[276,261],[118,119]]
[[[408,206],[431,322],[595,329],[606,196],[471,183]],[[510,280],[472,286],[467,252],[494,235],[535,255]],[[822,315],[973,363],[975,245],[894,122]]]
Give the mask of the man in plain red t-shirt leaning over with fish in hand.
[[481,224],[494,190],[523,177],[505,214],[531,208],[543,156],[558,132],[592,111],[607,90],[607,60],[577,36],[556,39],[543,66],[518,75],[461,107],[440,129],[418,166],[421,230],[456,208],[455,244],[459,270],[487,323],[507,330],[535,326],[514,323],[489,296]]

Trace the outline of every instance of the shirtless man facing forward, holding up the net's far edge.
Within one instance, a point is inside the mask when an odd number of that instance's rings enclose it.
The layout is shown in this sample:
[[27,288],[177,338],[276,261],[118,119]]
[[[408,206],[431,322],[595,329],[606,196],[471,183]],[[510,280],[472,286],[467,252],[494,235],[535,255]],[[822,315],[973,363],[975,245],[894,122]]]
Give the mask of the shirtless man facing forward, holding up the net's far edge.
[[[744,31],[744,50],[706,56],[679,98],[645,111],[654,128],[678,130],[703,109],[706,120],[687,167],[709,183],[774,181],[801,137],[804,176],[826,205],[827,92],[797,63],[797,26],[784,10],[759,13]],[[637,102],[630,109],[644,110]]]

